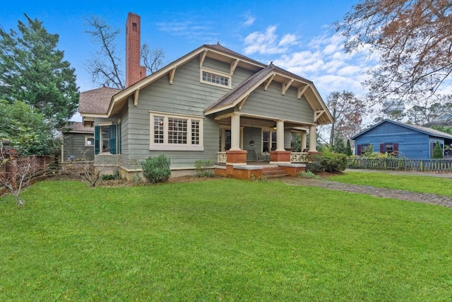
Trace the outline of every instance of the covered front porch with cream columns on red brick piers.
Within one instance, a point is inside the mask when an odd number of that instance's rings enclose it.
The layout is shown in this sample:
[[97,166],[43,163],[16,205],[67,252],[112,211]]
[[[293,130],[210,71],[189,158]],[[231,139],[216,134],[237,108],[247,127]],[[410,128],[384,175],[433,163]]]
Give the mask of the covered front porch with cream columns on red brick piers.
[[[237,112],[216,119],[220,124],[220,139],[215,174],[256,178],[271,165],[296,176],[304,170],[309,153],[318,153],[315,124],[251,117]],[[301,152],[291,148],[291,136],[295,133],[301,135]],[[307,134],[310,134],[309,145]]]

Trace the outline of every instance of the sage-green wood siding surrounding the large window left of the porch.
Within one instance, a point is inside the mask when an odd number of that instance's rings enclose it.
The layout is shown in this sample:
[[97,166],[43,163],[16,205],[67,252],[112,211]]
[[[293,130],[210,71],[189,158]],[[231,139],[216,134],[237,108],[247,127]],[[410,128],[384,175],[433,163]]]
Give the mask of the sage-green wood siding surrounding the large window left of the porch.
[[[215,69],[213,60],[206,59],[206,62],[209,64],[208,68]],[[217,70],[225,72],[225,64],[220,64]],[[237,69],[234,76],[236,74],[237,77],[242,79],[249,76],[245,69]],[[234,82],[232,81],[232,85],[234,85]],[[135,107],[133,103],[128,103],[127,130],[125,127],[123,128],[124,144],[127,142],[129,149],[133,150],[133,152],[128,153],[127,168],[133,168],[137,162],[149,156],[160,154],[165,154],[171,159],[172,168],[193,168],[194,161],[198,159],[215,162],[219,140],[218,122],[213,118],[204,117],[204,109],[229,91],[229,88],[200,83],[200,69],[197,58],[177,68],[172,85],[169,85],[169,80],[165,76],[143,88],[140,91],[138,106]],[[203,117],[204,151],[150,151],[149,111]],[[126,124],[125,121],[123,122]],[[126,138],[124,134],[126,134]]]

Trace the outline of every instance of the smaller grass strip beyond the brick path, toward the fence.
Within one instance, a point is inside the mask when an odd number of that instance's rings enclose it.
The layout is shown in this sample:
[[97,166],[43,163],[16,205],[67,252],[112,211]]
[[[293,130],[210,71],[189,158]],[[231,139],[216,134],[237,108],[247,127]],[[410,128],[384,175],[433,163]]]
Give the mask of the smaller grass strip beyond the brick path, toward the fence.
[[355,185],[370,185],[388,189],[424,192],[452,197],[452,179],[422,175],[400,175],[380,172],[347,171],[328,178]]

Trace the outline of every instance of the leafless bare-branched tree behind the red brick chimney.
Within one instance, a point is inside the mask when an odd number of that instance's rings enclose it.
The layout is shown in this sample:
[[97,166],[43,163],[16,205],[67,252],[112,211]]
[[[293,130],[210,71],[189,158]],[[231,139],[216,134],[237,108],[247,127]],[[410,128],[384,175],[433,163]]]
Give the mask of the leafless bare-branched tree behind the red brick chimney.
[[[93,77],[93,83],[124,89],[124,71],[121,69],[121,59],[117,56],[116,51],[116,39],[121,30],[112,28],[97,16],[85,18],[85,22],[88,25],[85,33],[91,36],[95,44],[100,45],[100,51],[93,55],[87,64],[87,70]],[[150,74],[160,69],[164,58],[163,50],[158,48],[152,50],[147,44],[141,45],[141,59]]]

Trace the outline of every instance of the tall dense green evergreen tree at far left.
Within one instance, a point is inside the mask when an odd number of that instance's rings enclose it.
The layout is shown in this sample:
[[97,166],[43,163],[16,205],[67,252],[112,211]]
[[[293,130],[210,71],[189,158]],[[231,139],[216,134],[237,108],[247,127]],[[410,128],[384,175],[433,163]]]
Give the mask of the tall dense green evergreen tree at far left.
[[18,31],[0,28],[0,98],[23,100],[61,126],[78,106],[75,69],[57,50],[59,35],[24,15]]

